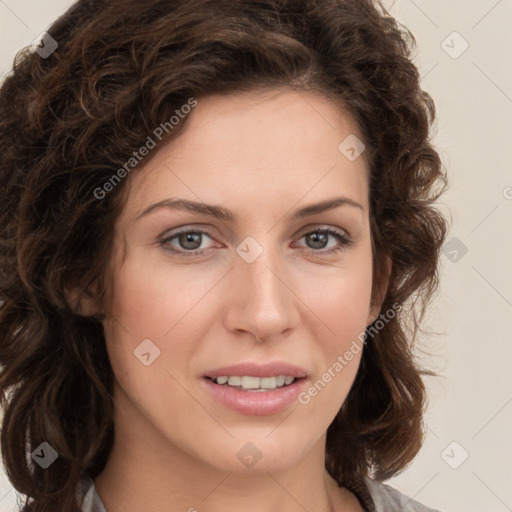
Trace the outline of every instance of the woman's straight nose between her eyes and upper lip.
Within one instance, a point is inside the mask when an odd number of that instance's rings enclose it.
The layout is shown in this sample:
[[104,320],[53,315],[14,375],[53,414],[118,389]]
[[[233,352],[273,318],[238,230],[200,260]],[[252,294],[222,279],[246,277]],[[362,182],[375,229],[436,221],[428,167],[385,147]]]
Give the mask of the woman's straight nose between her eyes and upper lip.
[[256,250],[254,243],[241,246],[242,256],[237,254],[229,273],[225,327],[240,336],[250,333],[249,338],[256,340],[279,340],[300,321],[300,299],[293,289],[291,269],[268,244],[260,245],[263,252],[253,261],[244,256],[243,249]]

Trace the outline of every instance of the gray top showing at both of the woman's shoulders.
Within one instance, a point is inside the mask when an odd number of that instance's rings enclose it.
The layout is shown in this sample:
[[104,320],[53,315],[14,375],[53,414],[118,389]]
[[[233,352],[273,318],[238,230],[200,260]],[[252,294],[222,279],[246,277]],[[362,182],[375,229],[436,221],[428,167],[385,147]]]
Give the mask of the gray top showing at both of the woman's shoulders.
[[[84,476],[80,483],[83,496],[82,512],[107,512],[96,491],[94,481],[90,477]],[[367,478],[366,486],[373,500],[375,512],[439,512],[439,510],[426,507],[381,482]],[[370,509],[367,510],[369,512]]]

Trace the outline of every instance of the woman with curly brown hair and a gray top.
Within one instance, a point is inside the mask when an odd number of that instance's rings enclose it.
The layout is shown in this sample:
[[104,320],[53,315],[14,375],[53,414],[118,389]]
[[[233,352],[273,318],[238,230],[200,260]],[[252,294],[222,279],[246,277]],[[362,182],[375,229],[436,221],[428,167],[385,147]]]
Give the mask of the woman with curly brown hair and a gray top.
[[24,510],[432,510],[382,483],[446,230],[412,35],[369,0],[82,0],[43,39],[0,90]]

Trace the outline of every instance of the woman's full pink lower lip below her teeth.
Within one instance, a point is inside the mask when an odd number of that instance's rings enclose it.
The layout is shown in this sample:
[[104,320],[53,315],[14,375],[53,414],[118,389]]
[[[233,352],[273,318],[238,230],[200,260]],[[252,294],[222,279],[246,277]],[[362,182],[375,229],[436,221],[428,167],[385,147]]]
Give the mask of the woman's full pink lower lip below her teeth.
[[266,416],[283,411],[293,402],[306,384],[307,378],[298,379],[274,391],[242,391],[238,388],[216,384],[204,377],[206,389],[224,406],[243,414]]

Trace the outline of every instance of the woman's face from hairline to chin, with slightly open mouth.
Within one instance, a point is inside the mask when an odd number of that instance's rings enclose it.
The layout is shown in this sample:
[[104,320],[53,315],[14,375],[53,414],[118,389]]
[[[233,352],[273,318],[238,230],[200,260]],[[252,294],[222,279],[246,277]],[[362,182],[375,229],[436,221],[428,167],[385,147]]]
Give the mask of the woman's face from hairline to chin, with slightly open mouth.
[[[189,116],[132,171],[116,223],[116,433],[162,463],[323,464],[375,318],[362,136],[335,103],[288,89],[212,95]],[[279,375],[303,378],[239,387]]]

